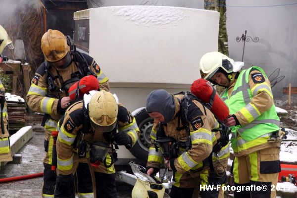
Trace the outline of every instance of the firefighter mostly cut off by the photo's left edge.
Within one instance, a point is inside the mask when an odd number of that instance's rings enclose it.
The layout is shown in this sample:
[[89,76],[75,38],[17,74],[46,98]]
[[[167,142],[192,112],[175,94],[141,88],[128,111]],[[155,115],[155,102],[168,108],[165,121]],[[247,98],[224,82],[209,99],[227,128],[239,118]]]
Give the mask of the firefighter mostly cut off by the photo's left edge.
[[[0,25],[0,63],[2,62],[2,51],[8,46],[9,49],[13,49],[13,44],[9,39],[5,29]],[[9,133],[8,133],[8,115],[6,108],[6,99],[4,96],[5,89],[0,81],[0,162],[12,161],[9,145]]]

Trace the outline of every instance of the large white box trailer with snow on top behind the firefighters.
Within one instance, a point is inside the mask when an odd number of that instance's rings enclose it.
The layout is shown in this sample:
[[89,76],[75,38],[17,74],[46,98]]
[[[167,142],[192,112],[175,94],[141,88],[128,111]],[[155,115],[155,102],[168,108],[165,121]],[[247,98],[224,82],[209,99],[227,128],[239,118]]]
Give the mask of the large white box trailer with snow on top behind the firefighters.
[[217,51],[218,27],[217,11],[194,8],[110,6],[74,12],[77,49],[95,58],[110,91],[130,112],[145,106],[154,89],[189,90],[200,78],[200,57]]

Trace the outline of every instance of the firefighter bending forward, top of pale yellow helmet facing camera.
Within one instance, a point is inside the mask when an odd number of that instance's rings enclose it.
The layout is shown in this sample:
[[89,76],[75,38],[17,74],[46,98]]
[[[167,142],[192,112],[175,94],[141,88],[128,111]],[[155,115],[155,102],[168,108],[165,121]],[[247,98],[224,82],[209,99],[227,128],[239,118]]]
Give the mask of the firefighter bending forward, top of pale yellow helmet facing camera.
[[[54,197],[75,198],[74,173],[79,162],[85,162],[89,164],[94,197],[116,198],[113,144],[130,149],[136,143],[139,129],[133,115],[117,104],[111,93],[91,91],[66,110],[58,129]],[[90,181],[89,174],[78,171],[76,174],[78,183]],[[90,184],[85,186],[78,191],[80,197],[87,198],[93,190]]]

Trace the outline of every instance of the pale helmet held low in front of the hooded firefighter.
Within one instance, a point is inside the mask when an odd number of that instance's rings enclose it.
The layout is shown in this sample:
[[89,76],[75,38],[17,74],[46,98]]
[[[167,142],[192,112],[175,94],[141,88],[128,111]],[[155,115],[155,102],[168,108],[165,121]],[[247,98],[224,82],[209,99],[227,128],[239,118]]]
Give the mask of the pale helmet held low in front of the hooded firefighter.
[[131,169],[136,176],[136,184],[132,190],[132,198],[170,198],[165,193],[165,187],[157,184],[153,178],[141,172],[144,167],[129,162]]

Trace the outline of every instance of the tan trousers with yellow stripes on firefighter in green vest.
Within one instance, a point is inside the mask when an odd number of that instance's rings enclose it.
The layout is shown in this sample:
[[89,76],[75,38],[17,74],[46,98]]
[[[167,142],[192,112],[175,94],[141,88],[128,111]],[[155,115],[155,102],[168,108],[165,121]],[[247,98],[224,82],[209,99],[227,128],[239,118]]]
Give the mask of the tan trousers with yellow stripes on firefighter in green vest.
[[272,147],[234,158],[234,183],[241,189],[234,192],[234,198],[276,198],[279,152],[279,147]]

